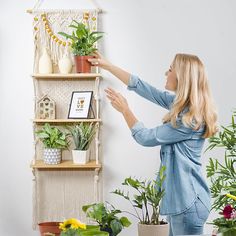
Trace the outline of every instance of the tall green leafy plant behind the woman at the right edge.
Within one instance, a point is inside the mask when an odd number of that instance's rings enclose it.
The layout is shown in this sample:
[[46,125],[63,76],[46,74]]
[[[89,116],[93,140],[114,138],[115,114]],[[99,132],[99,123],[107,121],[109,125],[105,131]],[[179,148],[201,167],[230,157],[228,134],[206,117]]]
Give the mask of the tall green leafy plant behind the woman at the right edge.
[[221,126],[220,132],[209,139],[210,145],[206,150],[224,148],[224,163],[210,158],[207,166],[207,177],[211,180],[211,195],[214,199],[212,209],[222,210],[223,206],[233,204],[232,199],[226,197],[226,193],[236,195],[236,113],[232,114],[232,122],[229,126]]

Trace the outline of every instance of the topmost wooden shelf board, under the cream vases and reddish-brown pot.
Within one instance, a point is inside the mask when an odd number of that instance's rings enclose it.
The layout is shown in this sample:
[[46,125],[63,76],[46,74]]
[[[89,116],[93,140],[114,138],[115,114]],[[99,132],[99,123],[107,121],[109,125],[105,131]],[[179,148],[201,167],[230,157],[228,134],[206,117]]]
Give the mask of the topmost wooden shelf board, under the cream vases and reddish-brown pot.
[[95,79],[101,78],[100,73],[71,73],[71,74],[32,74],[35,79]]

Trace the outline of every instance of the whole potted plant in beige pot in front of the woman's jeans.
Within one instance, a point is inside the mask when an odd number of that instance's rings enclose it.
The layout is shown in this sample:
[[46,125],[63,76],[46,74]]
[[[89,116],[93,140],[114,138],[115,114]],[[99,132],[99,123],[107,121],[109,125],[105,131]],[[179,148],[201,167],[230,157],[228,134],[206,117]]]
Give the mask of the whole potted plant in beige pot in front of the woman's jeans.
[[164,171],[165,166],[162,166],[157,180],[142,181],[137,178],[126,178],[122,185],[134,190],[133,196],[120,189],[113,191],[114,194],[128,200],[134,208],[135,214],[130,214],[139,220],[139,236],[168,236],[169,224],[159,219],[160,201],[164,196],[164,189],[162,189],[165,179]]

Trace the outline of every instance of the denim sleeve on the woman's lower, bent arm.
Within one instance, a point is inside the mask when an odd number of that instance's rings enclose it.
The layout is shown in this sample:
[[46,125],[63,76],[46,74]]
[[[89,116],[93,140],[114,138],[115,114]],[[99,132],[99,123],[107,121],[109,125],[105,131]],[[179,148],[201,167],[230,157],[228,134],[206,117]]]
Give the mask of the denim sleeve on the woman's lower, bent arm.
[[175,128],[171,123],[166,123],[155,128],[148,129],[138,121],[131,128],[133,138],[142,146],[158,146],[172,144],[192,138],[193,130],[182,123]]

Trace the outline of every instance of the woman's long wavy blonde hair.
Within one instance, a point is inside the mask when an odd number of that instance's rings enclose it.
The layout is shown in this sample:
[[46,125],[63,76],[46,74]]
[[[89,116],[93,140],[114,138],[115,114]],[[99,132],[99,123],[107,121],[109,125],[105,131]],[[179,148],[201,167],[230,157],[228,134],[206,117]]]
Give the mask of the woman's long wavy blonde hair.
[[172,69],[177,75],[178,85],[173,105],[163,122],[171,122],[176,127],[178,115],[185,126],[198,130],[205,125],[203,137],[208,138],[217,132],[217,114],[203,63],[197,56],[176,54]]

